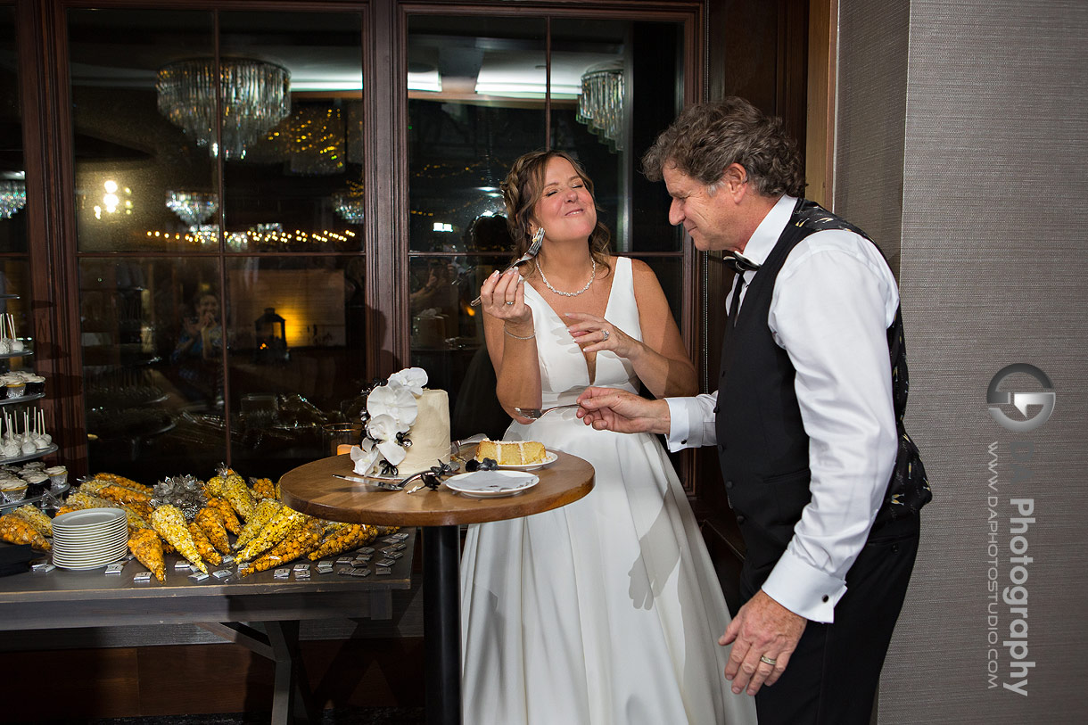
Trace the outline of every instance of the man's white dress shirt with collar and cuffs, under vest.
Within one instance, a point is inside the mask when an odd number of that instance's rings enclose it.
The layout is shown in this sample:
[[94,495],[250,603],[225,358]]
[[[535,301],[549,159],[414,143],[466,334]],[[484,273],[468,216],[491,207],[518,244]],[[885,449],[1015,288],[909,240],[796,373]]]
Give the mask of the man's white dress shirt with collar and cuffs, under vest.
[[[766,261],[795,202],[790,196],[778,200],[744,257]],[[745,287],[756,274],[744,272]],[[887,262],[854,232],[809,234],[790,251],[775,281],[767,323],[796,368],[812,501],[763,590],[814,622],[834,620],[846,572],[865,544],[895,463],[887,330],[898,307],[899,288]],[[717,397],[714,392],[667,398],[670,451],[717,442]]]

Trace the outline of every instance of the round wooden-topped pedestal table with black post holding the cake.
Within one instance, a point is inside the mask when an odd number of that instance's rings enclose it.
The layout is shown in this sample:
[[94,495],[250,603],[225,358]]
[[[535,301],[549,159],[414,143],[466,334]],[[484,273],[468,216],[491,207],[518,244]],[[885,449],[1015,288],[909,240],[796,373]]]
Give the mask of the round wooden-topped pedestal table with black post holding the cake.
[[280,479],[283,502],[310,516],[355,524],[423,527],[423,630],[426,648],[426,718],[461,722],[461,524],[519,518],[578,501],[593,490],[593,466],[557,452],[555,463],[532,471],[540,482],[517,495],[477,499],[446,489],[383,491],[334,478],[350,475],[348,454],[322,458]]

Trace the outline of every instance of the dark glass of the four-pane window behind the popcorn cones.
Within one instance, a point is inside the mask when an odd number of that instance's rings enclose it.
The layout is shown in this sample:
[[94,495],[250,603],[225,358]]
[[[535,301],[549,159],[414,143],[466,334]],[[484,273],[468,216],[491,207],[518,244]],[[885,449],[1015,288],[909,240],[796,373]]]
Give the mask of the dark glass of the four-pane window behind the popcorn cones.
[[67,19],[91,469],[325,455],[366,383],[361,15]]

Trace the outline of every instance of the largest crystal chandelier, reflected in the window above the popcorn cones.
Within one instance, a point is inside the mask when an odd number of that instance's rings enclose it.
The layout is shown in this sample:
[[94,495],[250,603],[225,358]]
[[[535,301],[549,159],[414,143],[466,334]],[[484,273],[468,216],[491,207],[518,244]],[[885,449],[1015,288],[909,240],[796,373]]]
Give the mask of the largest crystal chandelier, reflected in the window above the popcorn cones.
[[[215,61],[186,60],[159,70],[159,112],[212,158],[215,142]],[[240,160],[246,149],[290,113],[290,73],[273,63],[224,58],[219,63],[223,158]]]

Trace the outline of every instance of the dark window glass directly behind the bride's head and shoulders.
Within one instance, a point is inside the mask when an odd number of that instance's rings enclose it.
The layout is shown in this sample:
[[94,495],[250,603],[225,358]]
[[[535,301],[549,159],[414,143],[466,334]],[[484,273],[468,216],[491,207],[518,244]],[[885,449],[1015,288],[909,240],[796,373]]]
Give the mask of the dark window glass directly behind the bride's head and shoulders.
[[502,434],[509,421],[495,401],[479,310],[468,303],[509,261],[498,186],[522,153],[558,148],[582,162],[614,250],[668,255],[646,261],[679,314],[680,235],[638,161],[680,109],[681,29],[409,16],[411,361],[449,392],[455,438]]

